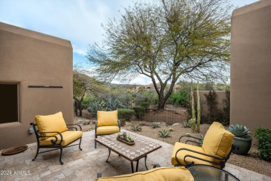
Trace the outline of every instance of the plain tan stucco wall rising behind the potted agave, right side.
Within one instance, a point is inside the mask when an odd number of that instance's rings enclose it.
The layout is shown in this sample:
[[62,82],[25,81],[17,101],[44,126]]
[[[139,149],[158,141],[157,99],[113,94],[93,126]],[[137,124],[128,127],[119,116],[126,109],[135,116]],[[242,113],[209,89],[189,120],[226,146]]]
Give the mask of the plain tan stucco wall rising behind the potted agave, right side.
[[233,10],[231,17],[231,124],[251,131],[271,127],[270,17],[270,0]]

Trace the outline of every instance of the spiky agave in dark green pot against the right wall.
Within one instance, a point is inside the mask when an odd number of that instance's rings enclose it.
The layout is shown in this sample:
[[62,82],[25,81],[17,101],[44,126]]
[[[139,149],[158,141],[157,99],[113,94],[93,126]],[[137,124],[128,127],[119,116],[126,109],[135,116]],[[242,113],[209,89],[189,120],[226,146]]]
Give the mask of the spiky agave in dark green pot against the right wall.
[[252,136],[247,127],[238,124],[230,125],[228,131],[234,135],[233,145],[237,146],[237,148],[233,150],[233,153],[237,155],[247,155],[247,152],[252,146]]

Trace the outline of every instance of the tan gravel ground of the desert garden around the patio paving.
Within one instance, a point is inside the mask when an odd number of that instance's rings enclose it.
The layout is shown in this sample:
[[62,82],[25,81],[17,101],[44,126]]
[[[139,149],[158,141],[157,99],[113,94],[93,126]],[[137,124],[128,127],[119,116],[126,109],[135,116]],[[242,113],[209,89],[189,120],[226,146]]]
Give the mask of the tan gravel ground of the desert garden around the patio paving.
[[[79,123],[83,128],[83,132],[87,132],[92,129],[95,129],[95,124],[92,123],[92,121],[90,121],[90,125],[83,125],[84,121],[89,121],[89,120],[85,118],[74,117],[74,123]],[[174,145],[176,141],[179,141],[179,137],[182,136],[183,134],[190,133],[191,136],[198,136],[200,134],[205,135],[208,128],[210,127],[210,125],[208,124],[202,124],[200,125],[199,133],[192,133],[191,128],[182,127],[181,125],[176,125],[172,127],[172,126],[162,123],[160,127],[153,129],[150,127],[151,123],[144,122],[144,121],[136,121],[136,120],[132,120],[131,125],[140,125],[142,127],[142,131],[136,132],[137,134],[148,136],[153,139],[158,139],[160,141],[163,141],[165,143],[169,143],[172,145]],[[170,137],[163,139],[158,136],[159,131],[161,131],[162,129],[169,129],[170,127],[174,129],[173,132],[170,132],[171,133]],[[128,126],[128,125],[122,128],[131,130],[131,126]],[[185,141],[186,139],[181,140],[182,143],[185,143]],[[240,166],[250,171],[254,171],[256,173],[261,173],[263,175],[268,175],[269,177],[271,177],[271,162],[267,162],[267,161],[264,161],[263,159],[259,159],[257,155],[258,155],[258,150],[255,148],[254,145],[252,145],[252,148],[249,150],[248,155],[243,156],[243,155],[236,155],[232,153],[227,163]]]

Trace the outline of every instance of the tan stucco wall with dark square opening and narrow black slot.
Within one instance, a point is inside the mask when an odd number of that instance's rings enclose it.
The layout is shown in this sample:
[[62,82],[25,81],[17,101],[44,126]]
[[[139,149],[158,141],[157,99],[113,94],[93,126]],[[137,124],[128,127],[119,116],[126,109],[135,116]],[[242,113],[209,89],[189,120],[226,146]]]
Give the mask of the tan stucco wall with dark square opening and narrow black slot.
[[19,84],[19,122],[0,124],[0,150],[35,142],[28,128],[36,115],[62,111],[66,123],[73,123],[72,45],[68,40],[0,22],[0,82]]

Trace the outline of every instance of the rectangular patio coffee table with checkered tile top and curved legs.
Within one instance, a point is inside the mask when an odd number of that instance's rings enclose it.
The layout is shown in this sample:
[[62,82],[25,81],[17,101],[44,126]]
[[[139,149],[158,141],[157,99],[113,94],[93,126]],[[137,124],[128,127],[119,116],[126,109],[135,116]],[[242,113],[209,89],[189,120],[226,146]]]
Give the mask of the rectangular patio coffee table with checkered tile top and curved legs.
[[99,138],[95,139],[97,143],[104,145],[108,148],[109,155],[106,159],[108,161],[110,157],[110,152],[113,151],[117,153],[117,155],[128,159],[131,162],[131,168],[133,173],[133,162],[136,162],[136,172],[138,171],[138,162],[141,158],[145,157],[145,167],[147,168],[146,159],[147,155],[159,148],[162,148],[162,145],[157,143],[148,141],[146,139],[139,138],[138,136],[127,134],[127,136],[131,136],[135,141],[134,145],[126,145],[120,141],[117,141],[117,134],[123,134],[123,132],[110,134],[106,136],[99,136]]

